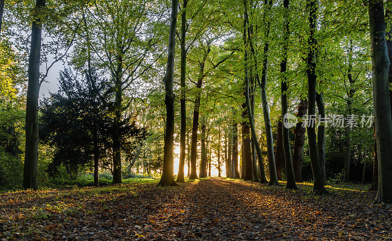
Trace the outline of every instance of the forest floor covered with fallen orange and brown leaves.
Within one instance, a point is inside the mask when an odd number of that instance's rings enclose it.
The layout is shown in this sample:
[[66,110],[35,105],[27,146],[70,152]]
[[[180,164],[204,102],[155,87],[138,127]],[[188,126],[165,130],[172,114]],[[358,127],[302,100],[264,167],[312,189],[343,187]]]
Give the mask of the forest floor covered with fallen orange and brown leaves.
[[0,240],[384,240],[392,211],[364,185],[329,195],[242,180],[0,194]]

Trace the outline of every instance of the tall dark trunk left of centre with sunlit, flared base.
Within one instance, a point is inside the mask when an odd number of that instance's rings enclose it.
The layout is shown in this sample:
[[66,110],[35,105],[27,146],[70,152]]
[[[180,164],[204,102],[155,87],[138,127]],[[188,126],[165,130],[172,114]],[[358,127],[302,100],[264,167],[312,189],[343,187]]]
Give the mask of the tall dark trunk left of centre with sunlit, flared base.
[[169,30],[169,49],[168,65],[164,78],[165,84],[165,105],[166,105],[166,133],[163,156],[163,171],[158,185],[174,186],[177,185],[173,178],[173,137],[174,137],[174,48],[175,48],[175,29],[177,25],[178,0],[172,0],[172,15]]

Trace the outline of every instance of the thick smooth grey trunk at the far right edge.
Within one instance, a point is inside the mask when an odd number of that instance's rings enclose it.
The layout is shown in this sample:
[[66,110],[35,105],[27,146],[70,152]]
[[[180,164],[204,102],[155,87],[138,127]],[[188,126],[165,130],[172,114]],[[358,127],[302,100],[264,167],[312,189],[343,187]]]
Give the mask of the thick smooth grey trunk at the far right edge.
[[386,44],[384,1],[369,0],[373,109],[377,139],[378,191],[375,203],[392,202],[392,119]]

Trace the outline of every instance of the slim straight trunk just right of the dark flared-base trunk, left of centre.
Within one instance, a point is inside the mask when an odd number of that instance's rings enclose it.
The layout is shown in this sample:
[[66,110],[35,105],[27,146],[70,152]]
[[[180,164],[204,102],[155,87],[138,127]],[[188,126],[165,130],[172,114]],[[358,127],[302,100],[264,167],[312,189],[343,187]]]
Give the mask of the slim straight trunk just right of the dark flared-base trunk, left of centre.
[[186,35],[186,8],[188,0],[183,2],[183,11],[181,13],[181,129],[180,129],[180,160],[178,165],[178,175],[176,182],[185,182],[184,180],[184,165],[185,165],[185,136],[186,136],[186,103],[185,103],[185,78],[186,78],[186,47],[185,47],[185,35]]

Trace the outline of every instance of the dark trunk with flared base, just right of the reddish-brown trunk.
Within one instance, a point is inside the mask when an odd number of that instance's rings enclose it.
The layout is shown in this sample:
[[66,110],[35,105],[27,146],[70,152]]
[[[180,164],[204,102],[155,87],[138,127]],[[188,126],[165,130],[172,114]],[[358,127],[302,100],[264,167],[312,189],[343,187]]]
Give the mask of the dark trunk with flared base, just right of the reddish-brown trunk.
[[327,193],[324,187],[323,174],[319,163],[319,153],[317,148],[317,137],[316,137],[316,30],[317,30],[317,9],[318,0],[308,0],[309,12],[309,29],[310,34],[308,38],[309,52],[306,59],[306,73],[308,76],[308,115],[309,123],[307,124],[308,132],[308,143],[309,143],[309,154],[310,162],[313,173],[313,192],[314,193]]

